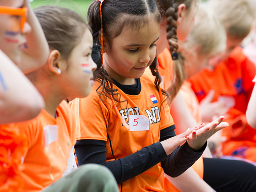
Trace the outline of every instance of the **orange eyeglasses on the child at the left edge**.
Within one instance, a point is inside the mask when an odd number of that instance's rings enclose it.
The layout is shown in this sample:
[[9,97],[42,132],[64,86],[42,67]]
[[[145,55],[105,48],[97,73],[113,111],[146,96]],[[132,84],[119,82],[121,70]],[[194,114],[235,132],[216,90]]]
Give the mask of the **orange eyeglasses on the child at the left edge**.
[[24,24],[26,22],[26,13],[27,13],[27,7],[16,8],[16,7],[0,6],[0,14],[10,14],[10,15],[21,16],[21,21],[20,21],[21,31],[23,30]]

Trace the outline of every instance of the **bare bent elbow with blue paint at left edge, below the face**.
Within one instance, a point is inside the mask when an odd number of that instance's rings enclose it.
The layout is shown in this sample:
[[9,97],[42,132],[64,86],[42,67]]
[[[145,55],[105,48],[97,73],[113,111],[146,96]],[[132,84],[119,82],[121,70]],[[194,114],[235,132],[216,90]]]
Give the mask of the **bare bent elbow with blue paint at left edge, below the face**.
[[44,107],[33,84],[0,50],[0,124],[32,119]]

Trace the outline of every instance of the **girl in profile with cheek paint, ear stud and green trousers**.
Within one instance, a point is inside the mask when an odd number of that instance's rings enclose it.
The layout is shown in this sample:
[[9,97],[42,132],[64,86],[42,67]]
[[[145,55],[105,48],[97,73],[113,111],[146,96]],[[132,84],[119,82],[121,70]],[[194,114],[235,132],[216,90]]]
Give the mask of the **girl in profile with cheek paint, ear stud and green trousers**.
[[17,191],[18,185],[21,191],[36,192],[55,182],[46,191],[97,192],[104,188],[106,192],[116,192],[113,176],[99,166],[81,167],[59,180],[76,143],[75,119],[64,100],[85,97],[91,91],[92,71],[96,69],[91,58],[92,36],[85,21],[74,11],[45,6],[37,8],[35,13],[50,54],[42,68],[27,76],[42,94],[46,107],[36,118],[17,124],[28,142],[24,168],[17,178],[10,180],[7,190]]

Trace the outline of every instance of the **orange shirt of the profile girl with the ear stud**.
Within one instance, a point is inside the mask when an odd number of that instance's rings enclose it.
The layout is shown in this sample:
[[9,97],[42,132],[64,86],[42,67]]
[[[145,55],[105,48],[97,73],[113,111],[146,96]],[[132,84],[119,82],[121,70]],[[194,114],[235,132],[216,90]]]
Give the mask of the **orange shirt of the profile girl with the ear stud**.
[[[20,178],[26,183],[22,191],[38,192],[62,177],[69,159],[69,154],[75,145],[74,114],[66,101],[57,108],[55,119],[45,110],[34,119],[18,123],[20,132],[28,138],[28,148],[25,154],[24,169]],[[46,126],[57,126],[57,140],[46,146]],[[14,180],[15,181],[15,180]],[[13,186],[10,184],[10,188]]]

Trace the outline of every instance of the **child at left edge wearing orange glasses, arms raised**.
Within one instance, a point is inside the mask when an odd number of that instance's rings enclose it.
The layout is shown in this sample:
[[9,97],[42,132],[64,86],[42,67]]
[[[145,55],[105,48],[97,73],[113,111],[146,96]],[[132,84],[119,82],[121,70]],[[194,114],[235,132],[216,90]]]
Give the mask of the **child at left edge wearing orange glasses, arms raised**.
[[23,73],[42,66],[48,54],[30,4],[0,0],[0,191],[10,191],[10,179],[18,179],[27,147],[27,138],[13,122],[32,119],[44,107],[42,96]]

